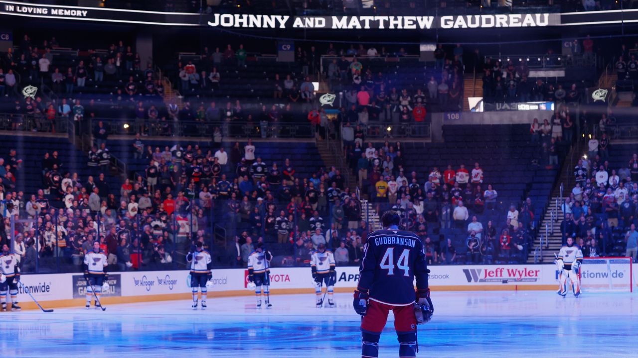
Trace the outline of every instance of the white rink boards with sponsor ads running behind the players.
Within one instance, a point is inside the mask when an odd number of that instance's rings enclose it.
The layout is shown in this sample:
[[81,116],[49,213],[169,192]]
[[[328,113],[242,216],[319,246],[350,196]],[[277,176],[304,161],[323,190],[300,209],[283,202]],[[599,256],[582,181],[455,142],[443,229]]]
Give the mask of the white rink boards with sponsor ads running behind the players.
[[[553,264],[533,265],[452,265],[430,266],[429,285],[433,290],[555,290],[558,271]],[[350,292],[357,287],[359,268],[338,267],[337,292]],[[105,303],[130,303],[186,299],[191,293],[189,272],[135,271],[112,273],[111,292],[105,292]],[[210,297],[243,296],[253,292],[246,289],[247,269],[214,269]],[[313,292],[310,268],[271,268],[272,294]],[[83,299],[85,285],[82,274],[22,275],[22,283],[38,301],[49,306],[72,306]],[[584,282],[584,281],[583,281]],[[632,280],[636,285],[636,275]],[[75,297],[75,298],[74,298]],[[31,299],[20,287],[18,299],[31,308]],[[33,308],[35,306],[33,305]]]

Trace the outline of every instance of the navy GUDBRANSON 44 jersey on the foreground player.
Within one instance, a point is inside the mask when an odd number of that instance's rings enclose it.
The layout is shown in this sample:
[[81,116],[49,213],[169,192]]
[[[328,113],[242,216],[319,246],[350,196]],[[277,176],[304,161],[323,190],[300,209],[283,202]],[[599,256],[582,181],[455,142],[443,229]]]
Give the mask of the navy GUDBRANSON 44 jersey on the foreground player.
[[369,234],[359,273],[357,289],[368,292],[371,300],[394,306],[414,303],[414,279],[419,292],[428,287],[429,270],[419,236],[400,230]]

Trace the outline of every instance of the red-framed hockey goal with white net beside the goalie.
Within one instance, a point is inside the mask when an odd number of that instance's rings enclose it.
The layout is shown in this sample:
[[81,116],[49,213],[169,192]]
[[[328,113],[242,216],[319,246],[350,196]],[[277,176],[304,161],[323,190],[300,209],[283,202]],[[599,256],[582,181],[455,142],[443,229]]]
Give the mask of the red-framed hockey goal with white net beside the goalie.
[[590,292],[633,292],[630,257],[585,257],[580,269],[581,288]]

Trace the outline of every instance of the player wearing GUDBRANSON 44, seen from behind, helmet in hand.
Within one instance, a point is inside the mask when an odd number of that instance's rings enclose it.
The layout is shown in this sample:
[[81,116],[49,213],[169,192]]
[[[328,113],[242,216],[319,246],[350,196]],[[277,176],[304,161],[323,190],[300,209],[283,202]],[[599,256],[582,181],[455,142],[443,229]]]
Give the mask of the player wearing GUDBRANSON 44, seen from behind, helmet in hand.
[[383,229],[367,236],[353,301],[355,311],[363,316],[362,358],[379,356],[379,338],[389,311],[394,313],[399,357],[416,357],[417,324],[427,323],[434,312],[421,240],[399,230],[400,220],[396,211],[386,211],[381,218]]

